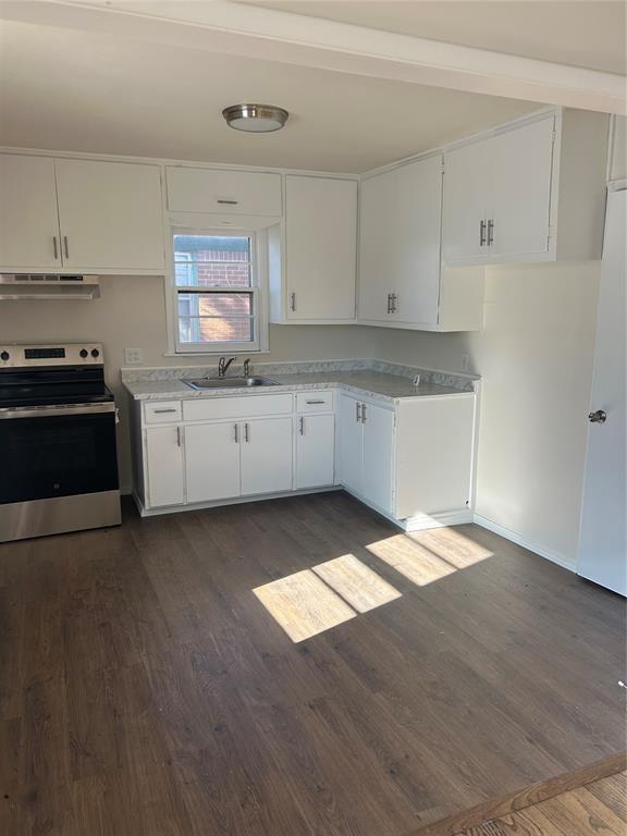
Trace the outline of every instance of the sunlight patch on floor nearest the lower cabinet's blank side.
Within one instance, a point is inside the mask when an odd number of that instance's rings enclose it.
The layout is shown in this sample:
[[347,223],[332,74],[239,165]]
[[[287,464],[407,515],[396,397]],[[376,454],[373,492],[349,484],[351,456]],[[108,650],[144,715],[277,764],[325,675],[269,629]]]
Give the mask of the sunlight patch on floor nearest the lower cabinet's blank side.
[[493,556],[465,534],[445,527],[393,534],[366,548],[418,587]]

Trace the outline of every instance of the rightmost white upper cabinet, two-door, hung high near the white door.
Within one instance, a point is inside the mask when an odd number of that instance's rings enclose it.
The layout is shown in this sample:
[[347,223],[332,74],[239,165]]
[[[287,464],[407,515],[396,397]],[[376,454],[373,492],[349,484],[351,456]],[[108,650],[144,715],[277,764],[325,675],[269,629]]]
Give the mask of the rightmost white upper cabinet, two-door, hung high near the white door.
[[444,262],[600,258],[607,131],[562,110],[445,151]]

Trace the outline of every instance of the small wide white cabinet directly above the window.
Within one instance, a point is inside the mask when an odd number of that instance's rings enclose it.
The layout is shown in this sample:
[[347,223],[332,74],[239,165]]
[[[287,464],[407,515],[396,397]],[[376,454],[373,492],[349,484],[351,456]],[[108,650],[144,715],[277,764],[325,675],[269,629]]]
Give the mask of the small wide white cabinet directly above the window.
[[167,168],[171,212],[281,216],[281,174]]

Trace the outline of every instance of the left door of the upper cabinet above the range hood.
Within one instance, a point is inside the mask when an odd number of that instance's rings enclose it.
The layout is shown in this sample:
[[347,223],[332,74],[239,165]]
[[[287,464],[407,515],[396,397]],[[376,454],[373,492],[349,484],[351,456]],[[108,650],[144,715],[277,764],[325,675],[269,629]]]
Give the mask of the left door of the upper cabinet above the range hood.
[[0,156],[0,265],[59,270],[54,160]]

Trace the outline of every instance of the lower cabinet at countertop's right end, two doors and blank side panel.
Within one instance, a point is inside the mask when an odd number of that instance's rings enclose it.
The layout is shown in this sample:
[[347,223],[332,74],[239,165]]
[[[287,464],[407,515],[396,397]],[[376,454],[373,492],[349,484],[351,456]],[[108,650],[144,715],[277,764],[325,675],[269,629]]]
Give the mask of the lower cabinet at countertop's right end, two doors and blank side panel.
[[410,530],[471,520],[475,393],[381,404],[342,393],[337,481]]

